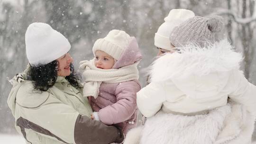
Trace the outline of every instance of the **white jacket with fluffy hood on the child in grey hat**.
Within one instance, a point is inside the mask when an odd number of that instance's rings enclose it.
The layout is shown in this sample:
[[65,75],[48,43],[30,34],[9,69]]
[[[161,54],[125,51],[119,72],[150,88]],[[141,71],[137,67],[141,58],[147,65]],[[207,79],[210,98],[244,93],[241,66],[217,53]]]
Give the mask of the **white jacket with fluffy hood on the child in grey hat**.
[[161,108],[194,113],[225,106],[229,97],[255,116],[256,86],[239,71],[241,59],[227,40],[165,54],[152,65],[151,83],[137,92],[137,107],[145,117]]

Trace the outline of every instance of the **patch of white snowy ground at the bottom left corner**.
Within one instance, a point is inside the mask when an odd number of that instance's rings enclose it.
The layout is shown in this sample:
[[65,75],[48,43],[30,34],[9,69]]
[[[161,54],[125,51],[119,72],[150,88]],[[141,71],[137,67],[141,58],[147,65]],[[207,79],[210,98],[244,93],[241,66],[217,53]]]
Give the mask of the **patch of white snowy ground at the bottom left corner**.
[[[3,135],[0,134],[0,144],[26,144],[20,135]],[[256,144],[256,141],[252,144]]]

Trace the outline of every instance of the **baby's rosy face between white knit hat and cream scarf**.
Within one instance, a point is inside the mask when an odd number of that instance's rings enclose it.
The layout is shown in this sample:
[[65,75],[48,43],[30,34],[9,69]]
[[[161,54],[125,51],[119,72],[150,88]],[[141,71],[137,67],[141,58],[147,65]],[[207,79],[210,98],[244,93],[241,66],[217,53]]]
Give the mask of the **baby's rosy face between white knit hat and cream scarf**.
[[115,59],[109,54],[97,50],[95,52],[95,66],[100,69],[111,69],[115,64]]

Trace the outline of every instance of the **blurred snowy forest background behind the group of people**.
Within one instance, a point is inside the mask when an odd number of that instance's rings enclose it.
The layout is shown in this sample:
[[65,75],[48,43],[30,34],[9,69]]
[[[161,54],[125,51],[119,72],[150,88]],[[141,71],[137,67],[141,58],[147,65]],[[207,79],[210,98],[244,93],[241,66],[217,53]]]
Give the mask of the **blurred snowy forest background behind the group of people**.
[[[121,29],[137,38],[143,54],[143,70],[157,54],[154,35],[171,9],[191,9],[196,15],[218,14],[225,18],[226,36],[243,53],[247,79],[256,84],[255,0],[0,0],[0,144],[24,143],[15,137],[14,118],[7,106],[11,85],[7,78],[27,65],[25,32],[33,22],[45,22],[66,36],[74,65],[91,59],[96,39],[111,29]],[[14,135],[14,136],[13,136]],[[256,138],[253,138],[256,139]]]

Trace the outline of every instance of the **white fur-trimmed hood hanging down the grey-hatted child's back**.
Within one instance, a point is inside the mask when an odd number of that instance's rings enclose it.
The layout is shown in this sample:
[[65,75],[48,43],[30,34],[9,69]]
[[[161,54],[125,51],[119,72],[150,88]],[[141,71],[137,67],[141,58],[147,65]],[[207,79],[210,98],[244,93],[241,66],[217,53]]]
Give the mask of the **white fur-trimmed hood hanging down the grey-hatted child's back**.
[[192,99],[219,95],[231,72],[239,70],[242,60],[227,40],[205,48],[189,45],[178,49],[179,53],[165,54],[155,60],[151,81],[171,82]]

